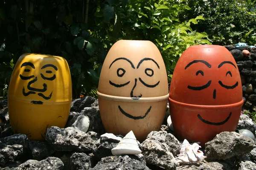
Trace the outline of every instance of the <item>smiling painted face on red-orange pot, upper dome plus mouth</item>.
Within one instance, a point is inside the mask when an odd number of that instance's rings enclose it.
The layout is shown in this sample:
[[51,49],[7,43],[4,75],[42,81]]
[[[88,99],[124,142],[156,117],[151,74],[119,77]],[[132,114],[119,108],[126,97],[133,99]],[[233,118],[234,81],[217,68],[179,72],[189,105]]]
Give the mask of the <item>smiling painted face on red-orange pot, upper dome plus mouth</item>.
[[[218,45],[200,47],[204,46],[188,48],[177,62],[175,69],[180,70],[179,78],[172,82],[170,98],[192,105],[229,105],[241,102],[241,78],[232,54]],[[207,53],[209,55],[205,57]],[[186,97],[177,97],[180,95]],[[230,112],[225,116],[226,119],[211,122],[198,114],[198,119],[209,125],[223,125],[231,116]]]

